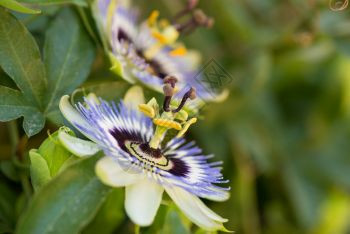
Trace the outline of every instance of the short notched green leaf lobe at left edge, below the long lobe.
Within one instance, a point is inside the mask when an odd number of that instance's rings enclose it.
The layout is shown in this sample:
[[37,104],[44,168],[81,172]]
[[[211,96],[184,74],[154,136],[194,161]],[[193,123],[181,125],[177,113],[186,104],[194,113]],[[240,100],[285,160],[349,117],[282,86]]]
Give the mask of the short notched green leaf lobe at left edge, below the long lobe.
[[36,107],[27,103],[21,92],[0,86],[0,121],[10,121],[21,116],[24,117],[23,128],[28,136],[38,133],[44,127],[44,116]]

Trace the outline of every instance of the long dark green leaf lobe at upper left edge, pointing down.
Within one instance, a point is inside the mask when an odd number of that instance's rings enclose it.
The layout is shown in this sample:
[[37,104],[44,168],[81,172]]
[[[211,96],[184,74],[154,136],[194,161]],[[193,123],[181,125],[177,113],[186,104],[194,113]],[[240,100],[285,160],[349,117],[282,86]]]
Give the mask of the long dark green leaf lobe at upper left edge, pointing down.
[[29,31],[0,8],[0,65],[33,106],[43,107],[47,81],[39,48]]

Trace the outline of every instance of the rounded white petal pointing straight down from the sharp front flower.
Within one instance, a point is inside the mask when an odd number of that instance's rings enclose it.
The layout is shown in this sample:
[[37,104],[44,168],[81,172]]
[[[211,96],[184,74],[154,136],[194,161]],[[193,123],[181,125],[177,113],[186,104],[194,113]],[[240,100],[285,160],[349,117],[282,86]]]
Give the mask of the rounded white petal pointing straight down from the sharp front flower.
[[147,178],[127,186],[125,209],[130,219],[140,226],[151,225],[162,201],[163,191],[163,187]]

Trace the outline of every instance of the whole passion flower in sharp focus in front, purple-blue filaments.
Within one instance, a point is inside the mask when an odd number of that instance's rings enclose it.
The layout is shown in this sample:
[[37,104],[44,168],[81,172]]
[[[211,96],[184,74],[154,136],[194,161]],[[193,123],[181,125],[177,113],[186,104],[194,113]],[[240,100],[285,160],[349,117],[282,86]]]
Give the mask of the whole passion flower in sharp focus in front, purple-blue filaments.
[[[165,82],[164,90],[169,93],[175,88],[173,79],[166,77]],[[109,186],[126,188],[125,209],[135,224],[152,224],[165,190],[193,223],[209,231],[227,231],[222,223],[228,220],[198,198],[229,198],[229,188],[215,185],[228,182],[218,167],[222,162],[207,162],[213,155],[203,155],[194,142],[186,143],[183,138],[196,122],[195,118],[188,119],[188,113],[182,109],[188,98],[194,99],[194,89],[185,94],[181,106],[170,105],[169,95],[166,96],[163,107],[154,98],[144,104],[138,86],[132,87],[119,104],[90,94],[84,103],[73,107],[69,97],[63,96],[63,115],[92,142],[65,131],[60,131],[58,138],[78,156],[92,156],[103,150],[106,156],[97,162],[96,174]],[[162,144],[172,129],[178,134]]]

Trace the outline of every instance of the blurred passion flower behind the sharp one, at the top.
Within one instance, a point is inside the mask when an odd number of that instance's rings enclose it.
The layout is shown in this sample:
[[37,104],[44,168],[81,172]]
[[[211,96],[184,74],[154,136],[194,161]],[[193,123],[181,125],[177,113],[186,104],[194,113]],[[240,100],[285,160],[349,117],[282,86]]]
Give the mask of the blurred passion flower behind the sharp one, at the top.
[[[130,1],[96,0],[93,14],[112,63],[111,70],[130,83],[138,81],[159,92],[166,76],[176,76],[179,90],[196,89],[199,98],[192,106],[225,99],[227,91],[214,91],[198,74],[199,52],[187,50],[178,40],[180,35],[189,34],[197,27],[212,27],[214,20],[202,10],[194,9],[196,5],[197,1],[189,1],[172,22],[158,19],[159,12],[153,11],[139,23],[137,10]],[[180,23],[183,16],[190,18]],[[175,95],[173,102],[178,103],[182,94]]]

